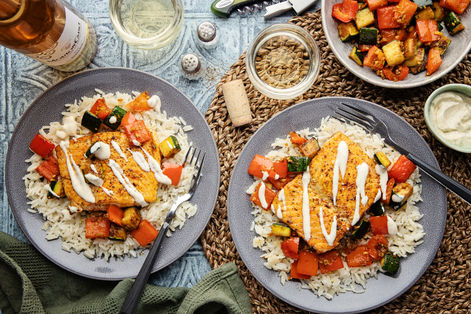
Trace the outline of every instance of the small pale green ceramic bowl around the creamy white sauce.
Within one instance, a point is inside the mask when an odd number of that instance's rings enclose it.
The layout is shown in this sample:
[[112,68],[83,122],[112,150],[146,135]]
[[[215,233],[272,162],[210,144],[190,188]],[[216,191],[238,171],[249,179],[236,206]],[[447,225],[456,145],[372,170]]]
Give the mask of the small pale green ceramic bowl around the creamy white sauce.
[[423,116],[425,118],[425,123],[427,124],[428,129],[432,132],[433,136],[439,140],[443,145],[448,146],[451,149],[457,150],[458,152],[463,153],[471,153],[471,146],[459,146],[453,143],[450,143],[448,140],[443,138],[443,136],[438,133],[438,130],[432,125],[430,120],[430,106],[432,101],[435,97],[443,92],[454,91],[458,93],[462,93],[466,96],[471,97],[471,86],[464,85],[464,84],[448,84],[445,86],[440,87],[439,89],[435,90],[425,102],[425,107],[423,108]]

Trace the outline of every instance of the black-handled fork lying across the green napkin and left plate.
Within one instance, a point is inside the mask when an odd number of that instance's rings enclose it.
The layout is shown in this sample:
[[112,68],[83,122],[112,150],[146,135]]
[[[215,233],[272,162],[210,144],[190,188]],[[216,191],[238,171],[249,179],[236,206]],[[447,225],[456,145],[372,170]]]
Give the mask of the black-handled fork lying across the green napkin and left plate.
[[[141,299],[142,292],[144,291],[144,287],[147,283],[147,280],[149,279],[149,275],[152,270],[152,267],[154,266],[155,258],[157,257],[160,251],[160,247],[162,246],[163,240],[165,239],[165,235],[167,234],[168,227],[170,226],[170,223],[173,220],[173,216],[175,216],[175,212],[177,208],[183,202],[189,200],[191,196],[193,196],[194,190],[198,186],[199,179],[201,177],[201,169],[203,168],[204,156],[206,153],[203,153],[203,156],[201,157],[201,161],[199,161],[198,163],[200,154],[201,154],[201,150],[199,150],[199,153],[196,157],[195,171],[197,170],[197,172],[196,172],[196,175],[193,175],[188,193],[179,195],[177,199],[175,200],[175,202],[173,203],[172,207],[170,208],[170,211],[168,212],[163,225],[160,227],[157,238],[155,239],[154,244],[152,244],[150,252],[146,257],[144,264],[141,267],[141,270],[139,270],[139,274],[137,275],[136,280],[134,281],[131,289],[129,290],[128,295],[126,296],[126,299],[124,300],[123,306],[121,307],[121,311],[119,312],[119,314],[133,314],[134,311],[136,310],[137,304],[139,304],[139,300]],[[190,155],[191,157],[189,158]],[[188,149],[188,152],[186,153],[185,162],[183,163],[183,166],[186,165],[188,158],[190,160],[188,165],[192,165],[193,158],[195,155],[196,155],[196,152],[193,151],[193,149],[190,147]]]

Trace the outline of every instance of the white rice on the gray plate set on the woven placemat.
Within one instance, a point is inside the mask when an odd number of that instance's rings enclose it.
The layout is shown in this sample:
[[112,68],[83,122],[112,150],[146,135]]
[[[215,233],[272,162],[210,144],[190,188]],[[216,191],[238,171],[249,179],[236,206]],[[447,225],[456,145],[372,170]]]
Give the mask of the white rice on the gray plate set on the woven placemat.
[[[340,123],[329,117],[323,118],[321,126],[313,131],[310,131],[309,128],[297,131],[299,135],[308,139],[315,137],[321,147],[337,132],[342,132],[348,136],[371,158],[373,158],[375,153],[382,151],[394,163],[400,156],[396,151],[385,145],[384,139],[380,138],[377,134],[367,134],[358,126]],[[272,144],[272,148],[274,150],[266,155],[272,161],[299,154],[298,147],[291,143],[289,136],[286,139],[277,138]],[[256,182],[247,190],[248,194],[252,194],[262,180],[260,178],[255,179]],[[421,238],[425,235],[422,225],[417,222],[422,218],[423,214],[415,206],[416,202],[422,200],[420,197],[422,185],[420,184],[421,180],[418,169],[414,171],[406,182],[414,188],[413,194],[407,200],[407,206],[404,209],[399,209],[397,212],[385,206],[386,214],[394,219],[398,228],[398,233],[395,236],[386,235],[389,241],[389,250],[400,257],[415,252],[414,248],[423,242]],[[266,259],[264,265],[269,269],[277,270],[281,283],[284,285],[289,280],[291,263],[294,259],[283,254],[280,245],[283,242],[283,237],[276,235],[269,236],[272,232],[272,224],[280,222],[280,219],[272,211],[265,211],[255,204],[253,209],[252,214],[255,218],[250,230],[257,233],[253,240],[253,246],[264,251],[261,255],[261,257]],[[358,244],[365,245],[372,236],[373,234],[368,232],[365,240],[359,241]],[[342,255],[346,256],[344,253]],[[377,272],[383,272],[378,261],[373,261],[369,266],[350,268],[347,266],[345,257],[343,259],[344,268],[326,274],[321,274],[319,270],[317,276],[312,276],[309,280],[300,279],[301,288],[312,289],[315,294],[323,295],[327,299],[333,298],[335,294],[340,292],[353,291],[355,293],[362,293],[366,288],[366,280],[373,276],[378,278]],[[361,285],[362,288],[358,289],[356,287],[357,284]]]

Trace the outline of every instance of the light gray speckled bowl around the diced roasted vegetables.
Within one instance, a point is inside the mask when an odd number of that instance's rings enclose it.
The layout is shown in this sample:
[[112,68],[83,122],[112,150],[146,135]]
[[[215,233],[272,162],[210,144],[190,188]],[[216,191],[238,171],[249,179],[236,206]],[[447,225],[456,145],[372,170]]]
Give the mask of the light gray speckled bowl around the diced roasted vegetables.
[[[453,70],[471,49],[471,8],[468,6],[468,8],[459,15],[461,23],[465,27],[463,31],[455,35],[449,35],[446,28],[443,27],[443,35],[451,39],[451,44],[446,49],[443,56],[441,56],[443,63],[438,70],[433,72],[431,76],[425,76],[426,70],[416,75],[409,73],[403,81],[399,82],[393,82],[388,79],[383,80],[370,68],[366,66],[360,67],[355,61],[349,58],[353,45],[351,42],[342,43],[337,30],[340,21],[332,17],[332,7],[341,2],[342,0],[322,0],[321,15],[325,37],[332,52],[348,71],[371,84],[387,88],[413,88],[431,83]],[[355,43],[355,46],[358,46],[358,43]],[[427,58],[427,56],[428,54],[425,54],[425,58]]]

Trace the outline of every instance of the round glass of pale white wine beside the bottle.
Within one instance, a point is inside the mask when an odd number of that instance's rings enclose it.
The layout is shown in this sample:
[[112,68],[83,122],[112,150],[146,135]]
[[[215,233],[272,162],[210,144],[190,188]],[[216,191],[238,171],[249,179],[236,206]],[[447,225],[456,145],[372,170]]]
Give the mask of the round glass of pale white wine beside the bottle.
[[139,49],[170,44],[183,26],[182,0],[110,0],[109,10],[116,33]]

